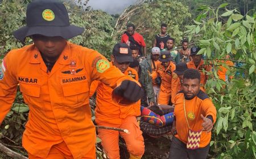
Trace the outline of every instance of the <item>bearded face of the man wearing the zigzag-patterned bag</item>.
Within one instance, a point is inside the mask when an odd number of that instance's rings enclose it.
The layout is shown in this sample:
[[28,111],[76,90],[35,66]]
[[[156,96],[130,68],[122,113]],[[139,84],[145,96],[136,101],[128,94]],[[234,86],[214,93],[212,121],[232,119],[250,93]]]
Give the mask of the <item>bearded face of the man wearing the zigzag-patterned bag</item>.
[[187,99],[194,98],[200,91],[199,79],[187,79],[183,78],[182,89]]

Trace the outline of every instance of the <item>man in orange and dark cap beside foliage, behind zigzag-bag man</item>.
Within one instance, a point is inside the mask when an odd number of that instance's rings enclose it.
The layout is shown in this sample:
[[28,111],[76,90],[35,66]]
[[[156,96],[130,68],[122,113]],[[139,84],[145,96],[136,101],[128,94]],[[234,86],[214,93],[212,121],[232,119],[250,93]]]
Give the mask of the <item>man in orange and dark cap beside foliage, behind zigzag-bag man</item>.
[[201,77],[200,77],[200,83],[201,83],[201,90],[205,91],[205,83],[207,82],[208,75],[207,72],[210,72],[212,70],[212,67],[210,65],[205,65],[204,60],[202,59],[202,55],[196,55],[200,51],[199,47],[192,47],[191,57],[192,61],[188,62],[188,68],[189,69],[197,69],[199,70]]

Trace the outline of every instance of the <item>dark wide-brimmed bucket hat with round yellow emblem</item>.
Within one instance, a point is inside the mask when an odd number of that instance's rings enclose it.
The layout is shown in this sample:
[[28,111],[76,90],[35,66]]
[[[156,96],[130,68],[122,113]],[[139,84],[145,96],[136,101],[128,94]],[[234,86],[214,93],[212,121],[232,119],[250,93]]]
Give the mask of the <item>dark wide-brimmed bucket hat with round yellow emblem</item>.
[[20,41],[35,34],[71,39],[84,32],[84,28],[70,25],[67,9],[59,1],[32,1],[27,6],[26,22],[27,26],[13,32]]

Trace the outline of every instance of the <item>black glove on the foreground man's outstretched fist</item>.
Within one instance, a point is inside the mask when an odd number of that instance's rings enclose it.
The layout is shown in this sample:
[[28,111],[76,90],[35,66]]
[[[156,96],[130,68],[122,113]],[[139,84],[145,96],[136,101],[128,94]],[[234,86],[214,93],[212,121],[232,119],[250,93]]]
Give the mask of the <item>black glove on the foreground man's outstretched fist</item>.
[[123,97],[126,103],[134,103],[141,99],[143,89],[136,82],[125,80],[113,90],[113,94]]

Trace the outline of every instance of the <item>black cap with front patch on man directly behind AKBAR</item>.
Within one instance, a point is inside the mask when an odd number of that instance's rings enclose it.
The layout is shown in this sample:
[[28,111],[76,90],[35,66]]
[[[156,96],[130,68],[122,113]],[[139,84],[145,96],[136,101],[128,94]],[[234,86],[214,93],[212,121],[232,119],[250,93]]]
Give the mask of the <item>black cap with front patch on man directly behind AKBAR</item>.
[[133,62],[133,56],[131,56],[131,49],[126,43],[115,44],[112,55],[119,63]]

